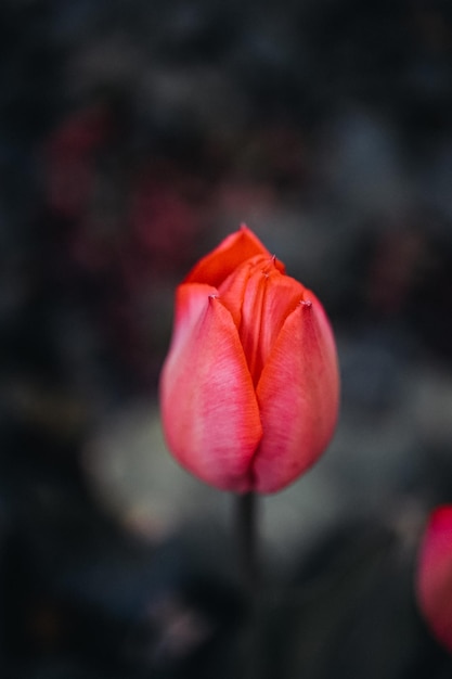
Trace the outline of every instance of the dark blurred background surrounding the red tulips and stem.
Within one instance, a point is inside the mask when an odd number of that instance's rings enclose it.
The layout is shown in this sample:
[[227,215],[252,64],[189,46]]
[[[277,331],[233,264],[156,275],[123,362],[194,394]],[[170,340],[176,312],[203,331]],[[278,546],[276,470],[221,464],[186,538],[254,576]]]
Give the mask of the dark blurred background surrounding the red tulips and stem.
[[[0,676],[451,677],[413,578],[452,501],[452,4],[2,0],[0,116]],[[157,403],[175,286],[241,222],[343,373],[262,500],[257,641]]]

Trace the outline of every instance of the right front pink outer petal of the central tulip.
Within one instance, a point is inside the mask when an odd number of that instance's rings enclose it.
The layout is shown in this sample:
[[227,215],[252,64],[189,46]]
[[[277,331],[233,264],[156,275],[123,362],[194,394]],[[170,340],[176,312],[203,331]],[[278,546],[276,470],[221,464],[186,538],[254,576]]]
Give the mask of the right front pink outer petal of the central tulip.
[[337,420],[339,377],[332,330],[309,291],[287,317],[257,386],[262,440],[254,488],[274,492],[323,452]]

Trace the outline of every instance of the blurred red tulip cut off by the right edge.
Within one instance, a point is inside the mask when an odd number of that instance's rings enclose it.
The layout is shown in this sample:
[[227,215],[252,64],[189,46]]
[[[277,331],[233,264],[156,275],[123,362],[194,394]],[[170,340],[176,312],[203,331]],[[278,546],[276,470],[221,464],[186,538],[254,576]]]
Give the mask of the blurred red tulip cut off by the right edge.
[[452,504],[431,513],[419,550],[416,590],[434,635],[452,651]]

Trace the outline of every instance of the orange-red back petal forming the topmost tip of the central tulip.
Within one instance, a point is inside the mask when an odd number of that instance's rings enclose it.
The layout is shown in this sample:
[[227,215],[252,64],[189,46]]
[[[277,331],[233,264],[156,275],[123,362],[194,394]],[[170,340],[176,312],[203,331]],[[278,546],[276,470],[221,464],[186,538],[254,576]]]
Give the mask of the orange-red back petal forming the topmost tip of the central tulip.
[[184,283],[206,283],[219,287],[241,264],[256,255],[271,257],[267,247],[253,231],[242,226],[211,253],[199,259],[185,278]]

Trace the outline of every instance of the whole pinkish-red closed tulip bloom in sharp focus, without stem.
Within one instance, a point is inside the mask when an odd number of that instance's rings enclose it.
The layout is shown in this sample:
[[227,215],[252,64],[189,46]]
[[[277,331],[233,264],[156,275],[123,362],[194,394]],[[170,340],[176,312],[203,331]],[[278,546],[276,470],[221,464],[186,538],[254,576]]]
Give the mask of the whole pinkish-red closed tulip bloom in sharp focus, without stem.
[[179,462],[217,488],[281,490],[333,435],[333,333],[318,298],[284,271],[242,227],[177,291],[164,431]]

